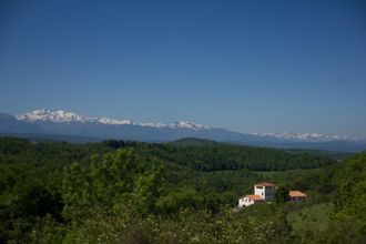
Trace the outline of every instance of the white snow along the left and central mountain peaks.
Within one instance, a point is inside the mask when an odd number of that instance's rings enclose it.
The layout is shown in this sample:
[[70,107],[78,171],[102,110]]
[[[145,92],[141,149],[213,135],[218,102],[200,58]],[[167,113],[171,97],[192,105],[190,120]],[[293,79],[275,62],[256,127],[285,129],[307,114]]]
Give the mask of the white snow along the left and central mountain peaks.
[[141,123],[133,122],[131,120],[116,120],[110,118],[98,118],[98,116],[82,116],[72,112],[65,112],[62,110],[59,111],[50,111],[45,109],[34,110],[29,113],[20,114],[17,116],[20,121],[43,121],[43,122],[52,122],[52,123],[101,123],[108,125],[138,125],[138,126],[149,126],[149,128],[170,128],[170,129],[190,129],[190,130],[209,130],[207,125],[195,124],[192,122],[175,122],[172,124],[163,124],[163,123]]

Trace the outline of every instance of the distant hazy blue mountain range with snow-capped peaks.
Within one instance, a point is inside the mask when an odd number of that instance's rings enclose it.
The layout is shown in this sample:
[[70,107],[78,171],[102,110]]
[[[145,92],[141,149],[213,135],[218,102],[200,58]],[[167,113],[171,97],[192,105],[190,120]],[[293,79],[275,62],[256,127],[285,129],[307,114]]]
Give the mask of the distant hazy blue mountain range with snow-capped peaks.
[[[192,122],[142,123],[131,120],[83,116],[65,111],[35,110],[20,115],[0,113],[0,133],[23,136],[54,135],[64,141],[122,139],[145,142],[169,142],[199,138],[235,144],[297,148],[343,152],[366,149],[366,140],[317,133],[238,133]],[[69,138],[68,138],[69,136]]]

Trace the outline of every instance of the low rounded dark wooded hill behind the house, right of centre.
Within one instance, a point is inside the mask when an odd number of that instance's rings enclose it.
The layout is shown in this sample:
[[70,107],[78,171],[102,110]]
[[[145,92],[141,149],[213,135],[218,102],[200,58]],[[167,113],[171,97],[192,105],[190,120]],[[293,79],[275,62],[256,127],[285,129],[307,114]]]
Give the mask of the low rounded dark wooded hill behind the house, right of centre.
[[202,171],[247,169],[283,171],[314,169],[334,163],[324,156],[296,151],[233,145],[206,140],[184,139],[166,144],[141,144],[145,152]]

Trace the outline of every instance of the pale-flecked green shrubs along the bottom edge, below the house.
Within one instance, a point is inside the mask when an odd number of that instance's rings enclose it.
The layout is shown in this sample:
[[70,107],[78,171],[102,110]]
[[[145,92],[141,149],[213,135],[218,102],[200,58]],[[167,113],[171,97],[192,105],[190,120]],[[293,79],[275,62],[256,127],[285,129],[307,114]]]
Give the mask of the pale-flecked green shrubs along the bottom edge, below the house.
[[282,209],[262,205],[251,211],[182,209],[172,217],[115,217],[98,213],[67,243],[284,243],[289,226]]

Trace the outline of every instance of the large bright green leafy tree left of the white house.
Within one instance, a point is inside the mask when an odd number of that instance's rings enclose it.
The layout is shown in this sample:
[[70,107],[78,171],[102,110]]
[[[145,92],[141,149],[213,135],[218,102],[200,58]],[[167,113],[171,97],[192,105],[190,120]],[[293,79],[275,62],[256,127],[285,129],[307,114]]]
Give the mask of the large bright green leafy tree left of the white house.
[[153,212],[162,191],[164,166],[157,162],[149,166],[135,160],[132,149],[94,155],[90,167],[71,164],[62,186],[63,216],[80,223],[94,209],[109,211],[126,200],[141,214]]

